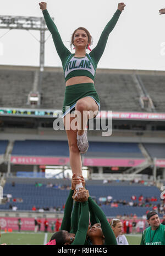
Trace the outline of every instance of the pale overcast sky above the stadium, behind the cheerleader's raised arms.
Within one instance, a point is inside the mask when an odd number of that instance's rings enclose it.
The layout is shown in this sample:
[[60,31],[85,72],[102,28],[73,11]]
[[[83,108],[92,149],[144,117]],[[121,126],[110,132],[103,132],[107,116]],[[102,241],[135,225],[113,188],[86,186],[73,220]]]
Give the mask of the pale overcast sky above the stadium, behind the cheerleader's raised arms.
[[[1,15],[42,17],[36,0],[5,0],[1,3]],[[47,9],[62,40],[70,50],[69,40],[75,28],[86,27],[95,47],[100,34],[116,12],[117,0],[47,0]],[[164,0],[126,0],[126,7],[118,23],[109,35],[105,52],[98,63],[100,68],[165,70],[165,8]],[[38,66],[40,33],[31,30],[0,29],[0,65]],[[50,32],[46,32],[48,38]],[[45,66],[61,66],[52,37],[45,44]]]

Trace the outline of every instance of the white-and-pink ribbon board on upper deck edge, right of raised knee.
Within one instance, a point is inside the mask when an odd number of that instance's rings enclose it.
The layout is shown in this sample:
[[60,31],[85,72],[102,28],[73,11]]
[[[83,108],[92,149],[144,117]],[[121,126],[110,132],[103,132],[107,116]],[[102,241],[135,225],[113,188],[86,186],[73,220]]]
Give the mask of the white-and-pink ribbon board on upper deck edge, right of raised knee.
[[100,111],[96,118],[165,120],[165,113]]

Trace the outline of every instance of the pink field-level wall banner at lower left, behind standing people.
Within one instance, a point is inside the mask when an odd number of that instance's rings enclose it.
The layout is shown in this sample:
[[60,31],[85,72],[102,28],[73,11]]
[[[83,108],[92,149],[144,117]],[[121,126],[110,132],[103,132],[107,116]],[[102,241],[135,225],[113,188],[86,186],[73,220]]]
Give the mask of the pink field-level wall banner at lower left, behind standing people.
[[[35,218],[21,218],[21,231],[34,231],[35,228]],[[18,231],[18,218],[16,217],[0,217],[0,226],[1,229],[4,230],[5,228],[8,230],[8,228],[12,228],[13,231]],[[40,231],[44,231],[44,221],[45,218],[41,218],[41,229]],[[48,231],[51,232],[51,222],[56,222],[57,218],[47,218],[47,221],[49,222]],[[62,218],[58,219],[59,222],[62,222]]]

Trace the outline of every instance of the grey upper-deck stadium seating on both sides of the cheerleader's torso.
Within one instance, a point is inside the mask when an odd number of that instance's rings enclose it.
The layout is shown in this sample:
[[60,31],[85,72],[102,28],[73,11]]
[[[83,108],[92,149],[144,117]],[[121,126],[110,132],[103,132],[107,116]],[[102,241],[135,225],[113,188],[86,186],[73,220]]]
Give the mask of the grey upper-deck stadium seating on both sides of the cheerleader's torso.
[[[164,112],[164,76],[139,75],[146,92],[150,95],[157,112]],[[27,96],[32,90],[35,70],[0,70],[0,106],[30,108]],[[140,92],[131,74],[112,74],[98,71],[95,86],[100,96],[101,110],[144,112],[139,103]],[[62,69],[44,71],[41,93],[43,109],[62,109],[65,82]],[[38,106],[33,106],[38,108]]]

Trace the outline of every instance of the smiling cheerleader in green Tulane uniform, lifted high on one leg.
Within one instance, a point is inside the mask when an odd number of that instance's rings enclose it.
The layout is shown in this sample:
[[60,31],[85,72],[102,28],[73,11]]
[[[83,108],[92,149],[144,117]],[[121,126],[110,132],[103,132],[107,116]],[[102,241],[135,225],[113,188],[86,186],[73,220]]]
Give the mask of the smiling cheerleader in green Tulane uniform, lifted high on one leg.
[[[82,175],[80,153],[86,153],[89,147],[86,124],[89,118],[92,119],[97,116],[100,109],[100,100],[94,85],[97,64],[106,48],[109,33],[116,26],[125,4],[118,4],[112,19],[103,29],[97,45],[89,54],[86,53],[86,49],[89,48],[92,37],[86,28],[75,29],[71,41],[75,53],[72,54],[63,44],[61,35],[47,11],[47,3],[41,2],[39,5],[62,61],[66,82],[63,118],[68,137],[70,166],[72,173],[80,176]],[[74,13],[70,11],[70,15],[74,15]],[[76,117],[72,115],[73,111],[75,111]],[[82,184],[79,184],[80,186],[83,187]]]

